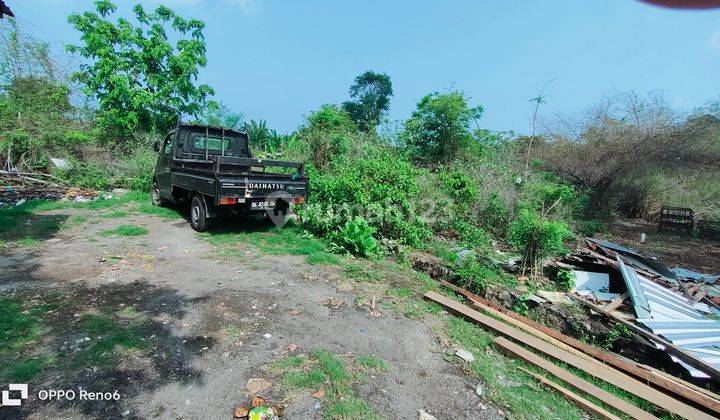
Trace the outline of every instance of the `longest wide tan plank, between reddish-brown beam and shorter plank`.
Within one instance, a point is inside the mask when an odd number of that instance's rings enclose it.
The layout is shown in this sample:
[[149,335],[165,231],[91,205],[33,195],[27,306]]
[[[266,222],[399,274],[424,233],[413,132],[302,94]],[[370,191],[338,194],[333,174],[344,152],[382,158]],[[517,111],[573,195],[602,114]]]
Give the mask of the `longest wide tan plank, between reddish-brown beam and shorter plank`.
[[597,364],[583,359],[582,357],[578,357],[570,352],[555,347],[552,344],[546,343],[545,341],[542,341],[537,337],[533,337],[530,334],[511,327],[503,323],[502,321],[498,321],[494,318],[490,318],[487,315],[483,315],[480,312],[469,308],[453,299],[447,298],[439,293],[427,292],[425,294],[425,297],[427,299],[434,300],[435,302],[442,304],[448,309],[451,309],[461,315],[477,321],[478,323],[498,334],[502,334],[525,345],[528,345],[547,356],[562,360],[563,362],[571,366],[585,371],[589,375],[611,383],[616,387],[623,389],[631,394],[634,394],[644,400],[647,400],[671,413],[693,420],[713,418],[712,416],[698,410],[697,408],[691,407],[681,401],[673,399],[672,397],[663,394],[662,392],[651,388],[648,385],[645,385],[642,382],[639,382],[636,379],[618,370],[615,370],[610,366],[598,366]]

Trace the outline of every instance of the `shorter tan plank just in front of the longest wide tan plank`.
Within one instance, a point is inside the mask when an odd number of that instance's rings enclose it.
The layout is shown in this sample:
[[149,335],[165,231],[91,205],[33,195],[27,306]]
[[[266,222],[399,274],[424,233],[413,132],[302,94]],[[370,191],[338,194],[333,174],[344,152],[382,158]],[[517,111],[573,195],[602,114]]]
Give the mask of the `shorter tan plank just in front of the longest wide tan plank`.
[[609,405],[610,407],[615,408],[616,410],[619,410],[627,415],[629,415],[632,418],[635,419],[656,419],[657,417],[653,416],[652,414],[641,410],[638,407],[635,407],[634,405],[630,404],[629,402],[623,400],[620,397],[617,397],[608,391],[605,391],[602,388],[599,388],[592,383],[586,381],[585,379],[580,378],[579,376],[576,376],[567,370],[561,368],[560,366],[557,366],[556,364],[550,362],[549,360],[543,359],[542,357],[538,356],[537,354],[526,350],[522,348],[521,346],[511,342],[510,340],[504,338],[504,337],[498,337],[493,341],[493,344],[495,347],[501,352],[504,353],[510,357],[514,357],[517,359],[524,360],[532,365],[535,365],[541,369],[544,369],[551,373],[553,376],[569,383],[570,385],[577,388],[580,392],[584,393],[585,395],[592,395],[595,398],[603,401],[605,404]]

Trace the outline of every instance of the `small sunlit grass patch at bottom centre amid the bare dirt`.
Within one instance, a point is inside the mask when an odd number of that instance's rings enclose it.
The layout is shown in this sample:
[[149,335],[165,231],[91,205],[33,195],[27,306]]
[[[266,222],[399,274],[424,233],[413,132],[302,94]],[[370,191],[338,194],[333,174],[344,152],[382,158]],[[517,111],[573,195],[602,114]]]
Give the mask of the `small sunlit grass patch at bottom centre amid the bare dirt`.
[[[383,360],[372,356],[356,356],[354,361],[364,369],[387,369]],[[353,392],[352,385],[362,375],[351,373],[340,358],[327,350],[315,350],[309,357],[281,359],[271,365],[271,370],[282,372],[280,384],[285,389],[325,390],[322,397],[324,418],[378,418],[370,406]]]

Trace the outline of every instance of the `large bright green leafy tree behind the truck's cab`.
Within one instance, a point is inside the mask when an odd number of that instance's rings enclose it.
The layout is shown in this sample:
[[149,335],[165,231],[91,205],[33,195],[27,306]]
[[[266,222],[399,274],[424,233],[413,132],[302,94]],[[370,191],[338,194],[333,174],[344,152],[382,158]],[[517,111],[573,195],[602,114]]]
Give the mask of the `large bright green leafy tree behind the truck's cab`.
[[[182,114],[196,115],[212,89],[197,83],[205,57],[205,24],[184,19],[165,6],[133,8],[136,24],[109,18],[116,7],[97,0],[95,11],[70,15],[82,45],[70,52],[86,59],[74,78],[97,98],[100,123],[118,136],[137,130],[164,131]],[[168,31],[177,39],[173,45]]]

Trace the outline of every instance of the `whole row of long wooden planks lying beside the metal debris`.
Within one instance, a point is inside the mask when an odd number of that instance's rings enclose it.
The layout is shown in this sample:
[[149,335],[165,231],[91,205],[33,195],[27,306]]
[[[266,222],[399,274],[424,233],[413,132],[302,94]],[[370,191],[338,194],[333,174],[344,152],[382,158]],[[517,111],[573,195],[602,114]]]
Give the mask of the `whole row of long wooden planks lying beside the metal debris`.
[[[558,366],[554,360],[606,381],[674,415],[687,419],[720,416],[720,397],[708,390],[618,354],[592,347],[451,283],[442,283],[467,298],[475,309],[435,292],[426,293],[425,298],[498,334],[493,342],[498,351],[524,360],[572,386],[574,390],[546,376],[529,372],[592,416],[616,419],[618,415],[624,414],[637,419],[655,418],[630,402]],[[602,401],[604,407],[581,394]]]

